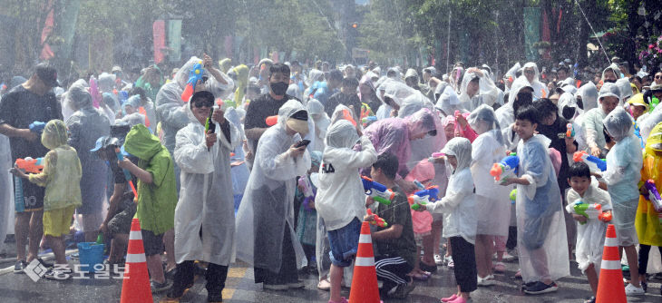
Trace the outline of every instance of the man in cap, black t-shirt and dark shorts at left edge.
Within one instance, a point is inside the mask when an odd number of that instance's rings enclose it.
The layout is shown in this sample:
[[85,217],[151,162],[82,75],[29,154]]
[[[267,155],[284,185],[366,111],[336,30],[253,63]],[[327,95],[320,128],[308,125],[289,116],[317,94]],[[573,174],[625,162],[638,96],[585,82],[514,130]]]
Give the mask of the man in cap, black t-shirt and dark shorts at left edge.
[[[32,132],[29,125],[33,122],[63,119],[62,108],[53,93],[53,88],[58,85],[55,69],[47,64],[37,64],[26,83],[3,95],[0,101],[0,133],[9,137],[13,162],[18,158],[44,157],[48,152],[40,142],[38,132]],[[32,182],[22,182],[22,185],[23,191],[20,188],[18,191],[23,197],[15,197],[15,273],[23,272],[27,263],[37,258],[39,241],[44,232],[44,188]],[[21,183],[15,183],[16,186],[21,186]],[[30,243],[26,258],[25,242],[28,233]]]

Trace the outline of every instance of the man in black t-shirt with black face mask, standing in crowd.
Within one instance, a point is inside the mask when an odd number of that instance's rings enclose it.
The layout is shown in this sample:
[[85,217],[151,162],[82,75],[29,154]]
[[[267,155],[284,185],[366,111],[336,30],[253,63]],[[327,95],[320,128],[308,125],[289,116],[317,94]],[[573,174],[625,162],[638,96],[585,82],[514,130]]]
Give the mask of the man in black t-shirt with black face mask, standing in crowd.
[[246,111],[244,130],[248,147],[253,154],[257,152],[259,138],[269,128],[267,117],[277,115],[278,109],[288,100],[297,100],[286,93],[289,85],[289,66],[286,64],[273,64],[269,67],[268,84],[269,93],[250,102]]

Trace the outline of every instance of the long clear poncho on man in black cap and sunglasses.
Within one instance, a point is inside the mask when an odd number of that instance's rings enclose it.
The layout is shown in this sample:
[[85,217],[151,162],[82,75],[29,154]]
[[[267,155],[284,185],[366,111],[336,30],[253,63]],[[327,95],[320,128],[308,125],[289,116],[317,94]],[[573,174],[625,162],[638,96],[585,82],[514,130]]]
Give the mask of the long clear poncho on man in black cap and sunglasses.
[[[175,208],[175,258],[228,266],[235,234],[230,152],[240,142],[240,125],[229,122],[229,138],[217,123],[218,141],[208,150],[205,125],[187,104],[189,124],[177,132],[173,159],[181,170]],[[201,233],[201,234],[200,234]]]

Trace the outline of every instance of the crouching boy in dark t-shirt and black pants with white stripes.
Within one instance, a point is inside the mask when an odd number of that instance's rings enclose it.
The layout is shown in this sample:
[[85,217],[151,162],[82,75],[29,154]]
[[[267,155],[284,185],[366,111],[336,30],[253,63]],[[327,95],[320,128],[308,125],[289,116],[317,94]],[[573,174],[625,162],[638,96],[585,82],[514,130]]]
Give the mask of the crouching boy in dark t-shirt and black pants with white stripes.
[[[414,290],[407,274],[414,269],[416,243],[407,197],[394,181],[398,165],[397,157],[385,152],[379,155],[370,171],[374,181],[395,193],[390,205],[379,203],[376,208],[376,215],[383,218],[388,227],[378,227],[371,235],[377,251],[377,279],[384,282],[382,289],[389,298],[406,298]],[[368,199],[367,203],[372,204],[374,200]],[[375,220],[375,215],[366,215],[364,220]]]

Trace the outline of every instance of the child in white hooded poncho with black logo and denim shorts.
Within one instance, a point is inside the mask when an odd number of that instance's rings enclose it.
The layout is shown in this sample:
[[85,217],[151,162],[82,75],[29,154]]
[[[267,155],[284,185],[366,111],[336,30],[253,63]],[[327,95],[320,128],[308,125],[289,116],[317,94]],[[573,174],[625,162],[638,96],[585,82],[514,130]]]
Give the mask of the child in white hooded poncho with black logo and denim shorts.
[[[358,169],[377,160],[377,152],[367,136],[360,136],[352,122],[340,120],[326,133],[326,149],[319,170],[316,210],[324,219],[331,251],[331,298],[329,302],[346,302],[340,297],[343,268],[352,264],[358,249],[361,220],[365,214],[365,193]],[[352,150],[357,141],[361,152]]]

